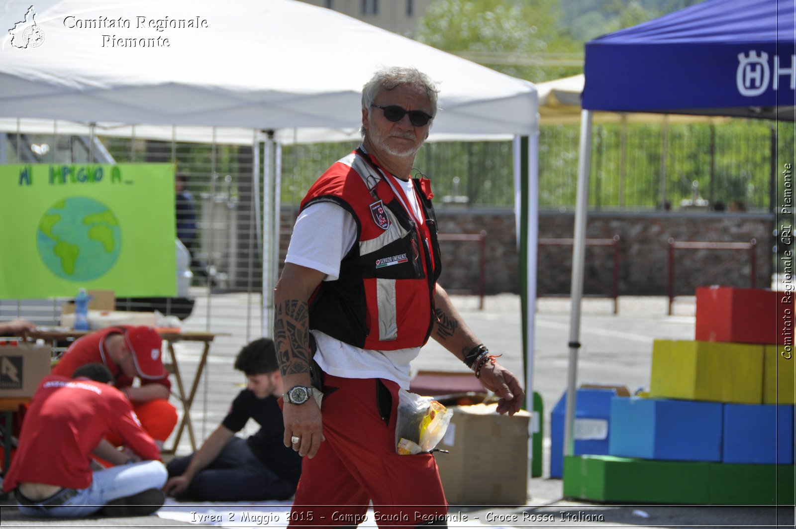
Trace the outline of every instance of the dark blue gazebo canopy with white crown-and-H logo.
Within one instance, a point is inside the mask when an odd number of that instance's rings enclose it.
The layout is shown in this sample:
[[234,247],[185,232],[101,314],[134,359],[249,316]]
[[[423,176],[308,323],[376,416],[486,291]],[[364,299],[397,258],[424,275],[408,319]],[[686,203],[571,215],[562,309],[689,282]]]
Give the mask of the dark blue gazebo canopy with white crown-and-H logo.
[[707,0],[586,44],[583,108],[794,120],[796,0]]

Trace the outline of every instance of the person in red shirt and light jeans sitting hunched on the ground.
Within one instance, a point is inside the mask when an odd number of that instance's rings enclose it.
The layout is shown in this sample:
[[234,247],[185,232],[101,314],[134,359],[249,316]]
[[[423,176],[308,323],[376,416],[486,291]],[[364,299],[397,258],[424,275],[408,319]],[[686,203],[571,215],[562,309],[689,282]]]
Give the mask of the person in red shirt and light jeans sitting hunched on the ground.
[[[119,390],[83,373],[111,380],[107,368],[99,364],[80,368],[75,379],[57,375],[42,379],[3,490],[14,491],[21,513],[31,516],[87,516],[111,502],[119,507],[150,504],[117,514],[156,511],[164,500],[158,489],[167,477],[158,446]],[[112,449],[104,441],[107,433],[121,437],[135,456]],[[93,455],[119,466],[92,472]]]

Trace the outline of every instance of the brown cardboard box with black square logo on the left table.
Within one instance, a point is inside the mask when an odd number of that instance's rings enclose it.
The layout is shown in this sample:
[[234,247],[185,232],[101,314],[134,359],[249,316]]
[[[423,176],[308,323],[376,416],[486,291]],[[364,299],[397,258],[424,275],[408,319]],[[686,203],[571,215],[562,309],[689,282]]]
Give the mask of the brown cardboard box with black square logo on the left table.
[[32,396],[52,359],[50,347],[0,347],[0,398]]

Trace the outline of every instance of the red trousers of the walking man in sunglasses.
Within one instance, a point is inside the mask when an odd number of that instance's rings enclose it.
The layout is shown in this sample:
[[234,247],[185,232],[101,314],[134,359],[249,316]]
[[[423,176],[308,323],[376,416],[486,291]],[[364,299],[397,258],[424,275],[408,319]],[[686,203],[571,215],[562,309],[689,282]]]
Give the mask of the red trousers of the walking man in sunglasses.
[[447,513],[447,502],[431,454],[396,454],[398,385],[382,381],[392,394],[389,424],[377,407],[376,378],[326,375],[323,435],[318,454],[305,457],[291,525],[357,525],[373,501],[380,526],[414,526]]

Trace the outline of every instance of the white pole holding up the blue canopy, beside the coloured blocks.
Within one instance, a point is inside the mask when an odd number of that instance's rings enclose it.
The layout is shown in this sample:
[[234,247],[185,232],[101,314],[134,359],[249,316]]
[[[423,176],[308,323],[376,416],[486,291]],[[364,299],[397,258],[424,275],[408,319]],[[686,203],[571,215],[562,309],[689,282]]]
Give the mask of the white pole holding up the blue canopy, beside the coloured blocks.
[[586,215],[589,206],[589,170],[591,168],[591,111],[580,113],[580,147],[578,158],[578,198],[575,210],[575,233],[572,241],[572,285],[569,315],[569,364],[567,370],[567,412],[564,417],[564,456],[574,451],[572,432],[578,379],[578,350],[580,348],[580,300],[583,297],[583,268],[586,254]]

